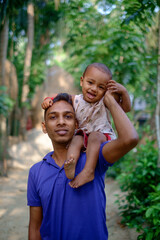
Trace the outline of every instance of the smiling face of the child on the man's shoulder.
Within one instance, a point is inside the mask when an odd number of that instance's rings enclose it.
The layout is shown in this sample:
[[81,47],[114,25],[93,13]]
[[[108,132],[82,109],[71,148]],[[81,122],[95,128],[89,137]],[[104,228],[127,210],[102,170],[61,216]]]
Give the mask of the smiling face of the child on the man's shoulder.
[[107,73],[95,67],[89,67],[80,82],[84,100],[89,103],[98,102],[104,96],[109,80]]

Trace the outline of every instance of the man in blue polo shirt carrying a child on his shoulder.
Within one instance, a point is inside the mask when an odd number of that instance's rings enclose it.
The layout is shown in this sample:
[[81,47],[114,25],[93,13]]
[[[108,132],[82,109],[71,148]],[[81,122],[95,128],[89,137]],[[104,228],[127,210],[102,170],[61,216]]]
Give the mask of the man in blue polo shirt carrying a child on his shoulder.
[[[101,145],[92,182],[73,189],[64,172],[67,148],[76,128],[75,112],[68,94],[59,94],[46,110],[42,124],[54,152],[32,166],[28,179],[30,206],[29,240],[107,240],[104,192],[105,172],[138,142],[137,133],[126,114],[108,91],[105,95],[118,137]],[[76,175],[83,169],[81,153]]]

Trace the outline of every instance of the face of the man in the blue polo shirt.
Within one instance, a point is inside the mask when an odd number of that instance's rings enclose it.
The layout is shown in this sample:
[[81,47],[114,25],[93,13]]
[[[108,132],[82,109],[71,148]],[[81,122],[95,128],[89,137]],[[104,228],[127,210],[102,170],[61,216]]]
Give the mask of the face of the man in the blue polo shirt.
[[68,144],[76,128],[75,112],[66,101],[58,101],[46,111],[43,132],[48,133],[53,144]]

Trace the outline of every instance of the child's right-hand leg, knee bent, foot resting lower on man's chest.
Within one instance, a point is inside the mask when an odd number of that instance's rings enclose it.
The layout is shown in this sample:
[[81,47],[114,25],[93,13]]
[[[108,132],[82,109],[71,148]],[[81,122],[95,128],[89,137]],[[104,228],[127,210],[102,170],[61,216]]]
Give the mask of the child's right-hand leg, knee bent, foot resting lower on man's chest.
[[94,171],[98,161],[100,145],[105,141],[106,137],[104,134],[99,132],[90,133],[86,152],[86,164],[82,172],[69,183],[71,187],[78,188],[94,179]]

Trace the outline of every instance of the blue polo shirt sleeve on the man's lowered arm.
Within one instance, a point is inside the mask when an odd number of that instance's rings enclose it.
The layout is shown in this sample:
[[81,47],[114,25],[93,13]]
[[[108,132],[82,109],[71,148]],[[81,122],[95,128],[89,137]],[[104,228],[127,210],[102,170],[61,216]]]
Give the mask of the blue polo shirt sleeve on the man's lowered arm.
[[41,206],[41,200],[36,188],[35,178],[30,169],[28,176],[28,185],[27,185],[27,205],[39,207]]

